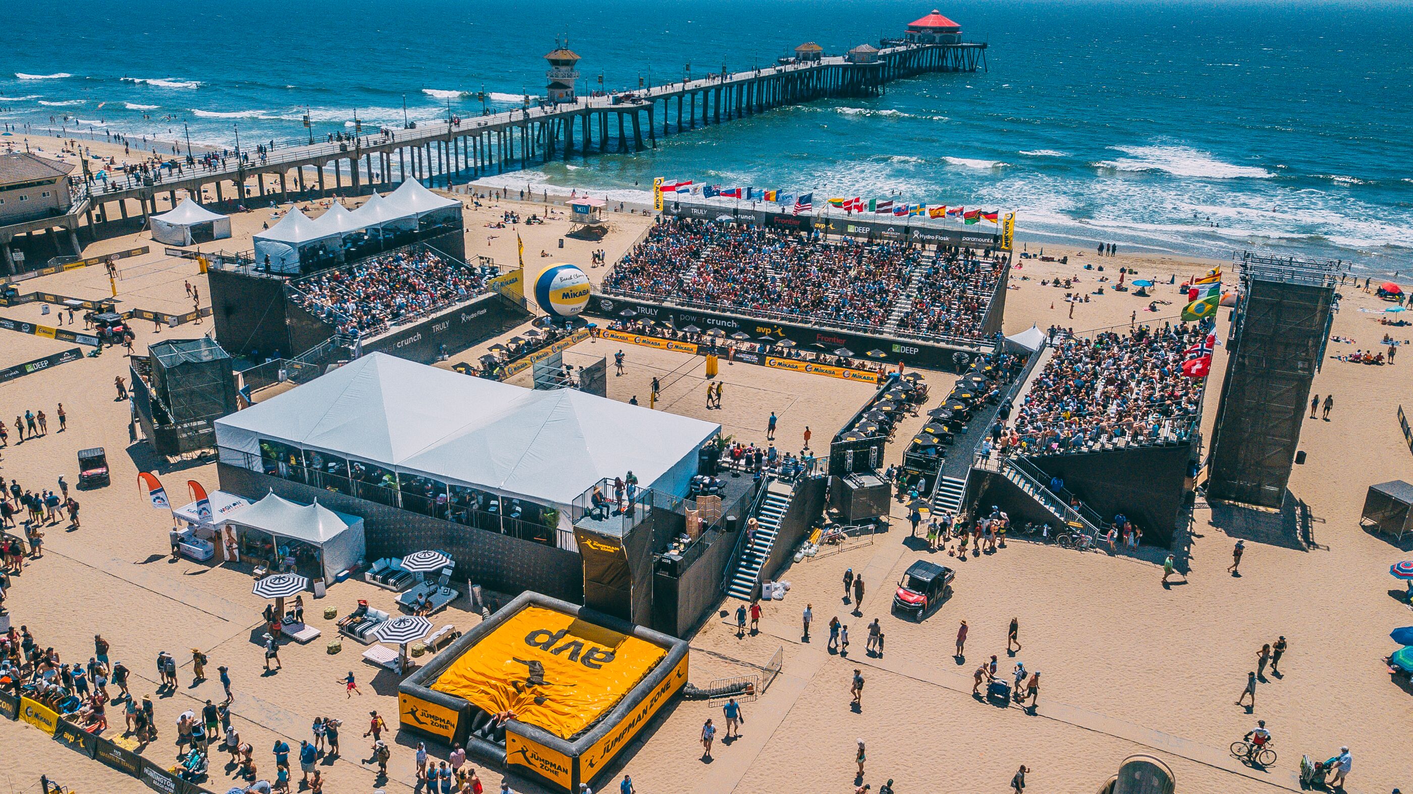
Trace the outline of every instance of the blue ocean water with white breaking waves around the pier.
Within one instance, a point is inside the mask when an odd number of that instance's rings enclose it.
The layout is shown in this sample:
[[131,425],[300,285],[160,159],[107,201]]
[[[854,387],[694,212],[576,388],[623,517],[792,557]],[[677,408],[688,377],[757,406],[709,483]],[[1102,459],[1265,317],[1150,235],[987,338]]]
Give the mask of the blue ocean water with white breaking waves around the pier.
[[[557,37],[603,86],[893,35],[894,0],[11,0],[0,122],[229,146],[513,107]],[[924,75],[517,172],[642,198],[654,175],[1017,212],[1027,244],[1234,249],[1413,270],[1413,4],[959,3],[982,73]],[[64,31],[65,35],[57,35]],[[487,92],[482,102],[468,92]],[[0,141],[11,138],[0,138]]]

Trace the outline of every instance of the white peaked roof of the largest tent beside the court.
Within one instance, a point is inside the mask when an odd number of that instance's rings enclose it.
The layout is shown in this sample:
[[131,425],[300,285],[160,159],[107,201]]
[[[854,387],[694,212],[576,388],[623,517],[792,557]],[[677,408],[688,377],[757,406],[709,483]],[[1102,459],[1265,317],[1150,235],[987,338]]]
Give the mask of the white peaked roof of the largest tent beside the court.
[[721,425],[574,389],[536,391],[370,353],[216,420],[220,462],[263,470],[261,442],[360,461],[400,476],[523,499],[560,511],[599,480],[633,472],[684,496],[698,449]]

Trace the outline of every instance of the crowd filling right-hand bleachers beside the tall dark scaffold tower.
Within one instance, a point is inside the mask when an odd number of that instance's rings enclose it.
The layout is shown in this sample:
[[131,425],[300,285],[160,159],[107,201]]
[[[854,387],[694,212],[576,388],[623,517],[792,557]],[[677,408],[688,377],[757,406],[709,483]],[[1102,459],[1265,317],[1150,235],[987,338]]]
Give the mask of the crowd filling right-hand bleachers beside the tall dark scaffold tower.
[[1183,360],[1202,335],[1181,324],[1057,340],[999,445],[1036,455],[1186,439],[1205,380]]

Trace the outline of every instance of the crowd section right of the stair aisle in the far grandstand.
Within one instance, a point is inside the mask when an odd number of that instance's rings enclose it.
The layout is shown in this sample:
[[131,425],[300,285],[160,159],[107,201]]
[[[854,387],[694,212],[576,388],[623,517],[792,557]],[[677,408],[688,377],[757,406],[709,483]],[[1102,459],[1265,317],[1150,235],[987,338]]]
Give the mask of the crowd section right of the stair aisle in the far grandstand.
[[918,274],[917,291],[897,321],[903,333],[981,339],[982,321],[1005,260],[948,251]]

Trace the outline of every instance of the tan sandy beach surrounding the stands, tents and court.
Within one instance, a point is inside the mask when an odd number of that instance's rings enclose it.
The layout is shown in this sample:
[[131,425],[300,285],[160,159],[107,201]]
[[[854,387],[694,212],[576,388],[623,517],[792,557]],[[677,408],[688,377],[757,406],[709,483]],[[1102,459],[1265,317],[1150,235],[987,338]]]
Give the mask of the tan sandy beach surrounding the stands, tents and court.
[[[85,146],[95,146],[88,144]],[[615,261],[646,229],[650,219],[639,213],[610,213],[610,232],[599,243],[564,239],[568,227],[562,208],[538,226],[487,227],[503,212],[521,216],[547,211],[544,203],[506,199],[468,202],[466,250],[492,257],[502,267],[516,261],[516,233],[524,240],[527,260],[544,250],[552,261],[581,264],[591,280],[602,280],[606,268],[588,266],[592,250],[605,250]],[[300,202],[321,212],[322,202]],[[356,202],[348,202],[356,206]],[[273,223],[288,205],[263,208],[232,218],[233,239],[216,247],[247,250],[250,236]],[[185,311],[184,284],[208,292],[205,278],[189,260],[165,257],[147,232],[103,240],[89,246],[95,256],[148,244],[153,251],[122,260],[119,301],[122,308],[174,307]],[[1031,251],[1037,246],[1030,244]],[[1067,264],[1017,260],[1006,295],[1005,331],[1031,325],[1060,325],[1078,333],[1132,322],[1176,321],[1181,295],[1170,281],[1204,271],[1214,263],[1156,254],[1098,257],[1046,244],[1046,256],[1070,256]],[[1094,270],[1085,270],[1085,264]],[[1096,267],[1104,266],[1104,271]],[[1115,292],[1119,267],[1157,283],[1153,297]],[[1071,278],[1070,288],[1051,287],[1056,278]],[[1108,281],[1101,281],[1108,278]],[[1077,281],[1075,281],[1077,280]],[[1104,287],[1104,294],[1094,294]],[[107,278],[99,267],[25,281],[24,290],[45,290],[72,297],[105,297]],[[1067,302],[1065,292],[1088,295],[1088,302]],[[1330,353],[1379,346],[1385,332],[1397,339],[1413,338],[1405,328],[1381,325],[1386,304],[1352,285],[1342,288],[1345,300],[1335,315],[1332,332],[1352,342],[1331,342]],[[1167,301],[1147,311],[1152,301]],[[1071,315],[1071,307],[1074,314]],[[1371,309],[1371,311],[1364,311]],[[0,316],[48,322],[38,304],[0,309]],[[1225,339],[1228,314],[1221,312],[1218,339]],[[154,331],[136,324],[136,352],[167,338],[194,338],[209,325],[184,325]],[[519,329],[499,339],[507,339]],[[64,349],[52,339],[0,331],[0,365],[28,360]],[[452,356],[473,359],[495,340]],[[609,356],[615,345],[584,342],[574,355]],[[702,359],[673,352],[630,348],[626,373],[609,374],[609,397],[637,396],[646,404],[647,383],[664,380],[660,410],[706,418],[723,425],[723,432],[742,441],[764,441],[766,417],[780,417],[777,445],[794,451],[804,425],[817,445],[827,445],[839,425],[868,400],[870,389],[804,373],[764,370],[746,365],[723,366],[726,398],[722,410],[702,405]],[[1218,346],[1208,383],[1204,437],[1210,438],[1215,396],[1226,366],[1225,346]],[[1177,776],[1178,791],[1195,794],[1245,794],[1299,790],[1296,764],[1303,753],[1325,759],[1341,745],[1354,753],[1354,771],[1347,791],[1379,793],[1407,786],[1407,754],[1413,723],[1407,719],[1410,692],[1390,681],[1381,658],[1395,650],[1389,630],[1413,623],[1402,585],[1388,576],[1388,565],[1402,559],[1400,548],[1385,537],[1359,527],[1359,509],[1368,485],[1390,479],[1413,479],[1413,456],[1403,444],[1395,411],[1410,387],[1410,365],[1362,366],[1327,359],[1316,376],[1313,393],[1332,394],[1335,408],[1328,421],[1307,420],[1301,445],[1308,455],[1296,466],[1290,489],[1313,514],[1314,545],[1306,545],[1273,517],[1198,500],[1193,524],[1178,554],[1186,572],[1183,583],[1164,588],[1161,550],[1140,554],[1080,552],[1056,545],[1013,538],[993,555],[958,562],[945,554],[931,558],[958,568],[955,596],[921,623],[889,613],[893,583],[914,559],[928,557],[910,541],[906,513],[894,503],[893,527],[870,544],[796,564],[780,574],[791,582],[788,596],[764,605],[757,636],[738,637],[733,626],[708,617],[691,637],[691,680],[740,674],[750,665],[783,651],[783,674],[760,699],[745,705],[746,723],[740,739],[718,742],[714,759],[701,759],[698,732],[706,718],[721,722],[719,708],[704,702],[678,701],[643,732],[616,762],[601,787],[616,786],[632,774],[640,793],[756,793],[756,791],[853,791],[868,783],[872,791],[894,780],[899,791],[1005,791],[1019,764],[1030,767],[1027,793],[1087,793],[1096,790],[1119,763],[1137,753],[1166,762]],[[168,557],[170,520],[153,510],[133,486],[138,470],[157,465],[143,444],[129,444],[127,404],[116,401],[113,379],[127,376],[127,360],[119,350],[100,357],[65,363],[10,383],[0,384],[0,418],[25,410],[54,413],[64,403],[68,429],[0,449],[0,476],[24,487],[54,487],[62,475],[76,479],[75,454],[81,448],[105,446],[113,468],[112,486],[78,492],[82,527],[64,524],[47,528],[44,555],[28,561],[7,592],[6,608],[16,626],[25,624],[41,646],[54,646],[64,661],[86,661],[93,654],[92,637],[102,633],[112,641],[114,660],[134,672],[133,694],[155,694],[154,660],[167,650],[179,663],[177,691],[154,698],[161,736],[141,747],[144,757],[160,763],[174,759],[174,725],[187,709],[205,699],[220,699],[215,680],[194,682],[191,648],[227,665],[233,678],[232,713],[244,740],[256,750],[260,776],[273,778],[271,746],[284,739],[298,747],[311,737],[315,716],[343,721],[343,753],[325,757],[319,769],[325,791],[410,793],[417,790],[413,752],[415,740],[396,736],[386,783],[374,781],[374,769],[362,763],[369,742],[362,737],[369,711],[376,709],[396,722],[397,677],[374,671],[357,658],[362,653],[345,640],[341,654],[325,653],[324,641],[336,634],[335,622],[322,616],[325,606],[346,615],[356,599],[390,609],[393,595],[349,581],[335,585],[321,600],[309,599],[309,624],[324,637],[308,644],[281,648],[283,670],[263,674],[260,610],[266,602],[250,593],[249,575],[219,565],[203,565]],[[926,373],[933,407],[948,390],[944,373]],[[526,376],[520,376],[526,380]],[[519,383],[520,380],[517,380]],[[887,461],[901,456],[901,444],[920,427],[910,418],[887,451]],[[161,469],[174,503],[185,503],[185,480],[206,489],[216,486],[213,463]],[[1358,473],[1358,478],[1351,476]],[[1241,576],[1225,572],[1232,544],[1246,540]],[[839,581],[846,568],[861,574],[868,585],[862,605],[839,599]],[[733,610],[738,602],[723,602]],[[817,634],[801,641],[800,613],[811,603]],[[434,622],[465,630],[479,617],[465,598]],[[858,608],[858,615],[852,610]],[[856,641],[848,658],[825,650],[818,632],[834,615],[845,620]],[[866,656],[865,626],[875,617],[886,626],[886,653]],[[1006,624],[1019,619],[1022,650],[1005,651]],[[958,623],[966,620],[971,634],[964,660],[952,657]],[[1248,713],[1232,705],[1252,668],[1262,643],[1286,636],[1290,650],[1282,660],[1282,675],[1260,684],[1258,708]],[[971,697],[971,672],[991,654],[1000,656],[1009,672],[1017,661],[1043,672],[1043,688],[1034,713],[1019,706],[996,708]],[[868,681],[862,708],[849,706],[849,678],[859,668]],[[349,671],[357,677],[362,695],[345,695],[338,681]],[[1273,730],[1277,764],[1253,770],[1228,754],[1226,747],[1265,719]],[[123,733],[122,708],[109,709],[110,729]],[[858,739],[868,743],[868,766],[855,781],[853,753]],[[38,776],[48,774],[78,791],[137,793],[146,787],[120,776],[99,762],[44,739],[34,728],[0,721],[0,780],[13,791],[31,791]],[[447,757],[447,747],[430,747],[434,757]],[[213,754],[213,791],[232,783],[227,756]],[[480,769],[487,791],[504,778],[514,791],[544,788],[519,776]],[[298,771],[294,783],[298,784]]]

